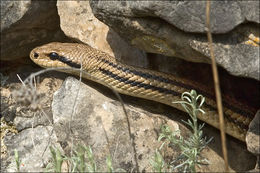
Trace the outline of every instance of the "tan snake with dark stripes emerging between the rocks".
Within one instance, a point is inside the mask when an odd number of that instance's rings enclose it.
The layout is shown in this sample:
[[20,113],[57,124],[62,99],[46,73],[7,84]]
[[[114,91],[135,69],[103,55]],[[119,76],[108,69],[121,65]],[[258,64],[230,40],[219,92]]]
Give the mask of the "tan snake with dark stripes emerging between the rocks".
[[[160,102],[181,111],[185,111],[182,105],[173,101],[181,100],[182,93],[194,89],[205,97],[202,105],[205,113],[198,113],[197,118],[219,129],[215,94],[196,81],[126,65],[105,52],[80,43],[48,43],[31,50],[30,58],[43,68],[56,68],[73,75],[82,71],[83,78],[112,87],[118,93]],[[68,70],[70,68],[78,71]],[[245,141],[255,110],[226,97],[223,99],[223,114],[226,134]]]

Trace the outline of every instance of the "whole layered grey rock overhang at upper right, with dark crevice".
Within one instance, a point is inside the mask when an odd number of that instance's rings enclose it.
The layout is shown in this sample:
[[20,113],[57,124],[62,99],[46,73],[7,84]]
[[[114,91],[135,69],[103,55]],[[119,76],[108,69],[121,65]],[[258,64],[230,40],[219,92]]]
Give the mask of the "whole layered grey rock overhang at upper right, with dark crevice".
[[[205,1],[91,1],[94,15],[147,52],[210,62]],[[217,63],[233,75],[259,80],[259,3],[212,1]],[[258,43],[246,44],[258,37]],[[256,39],[257,41],[257,39]]]

